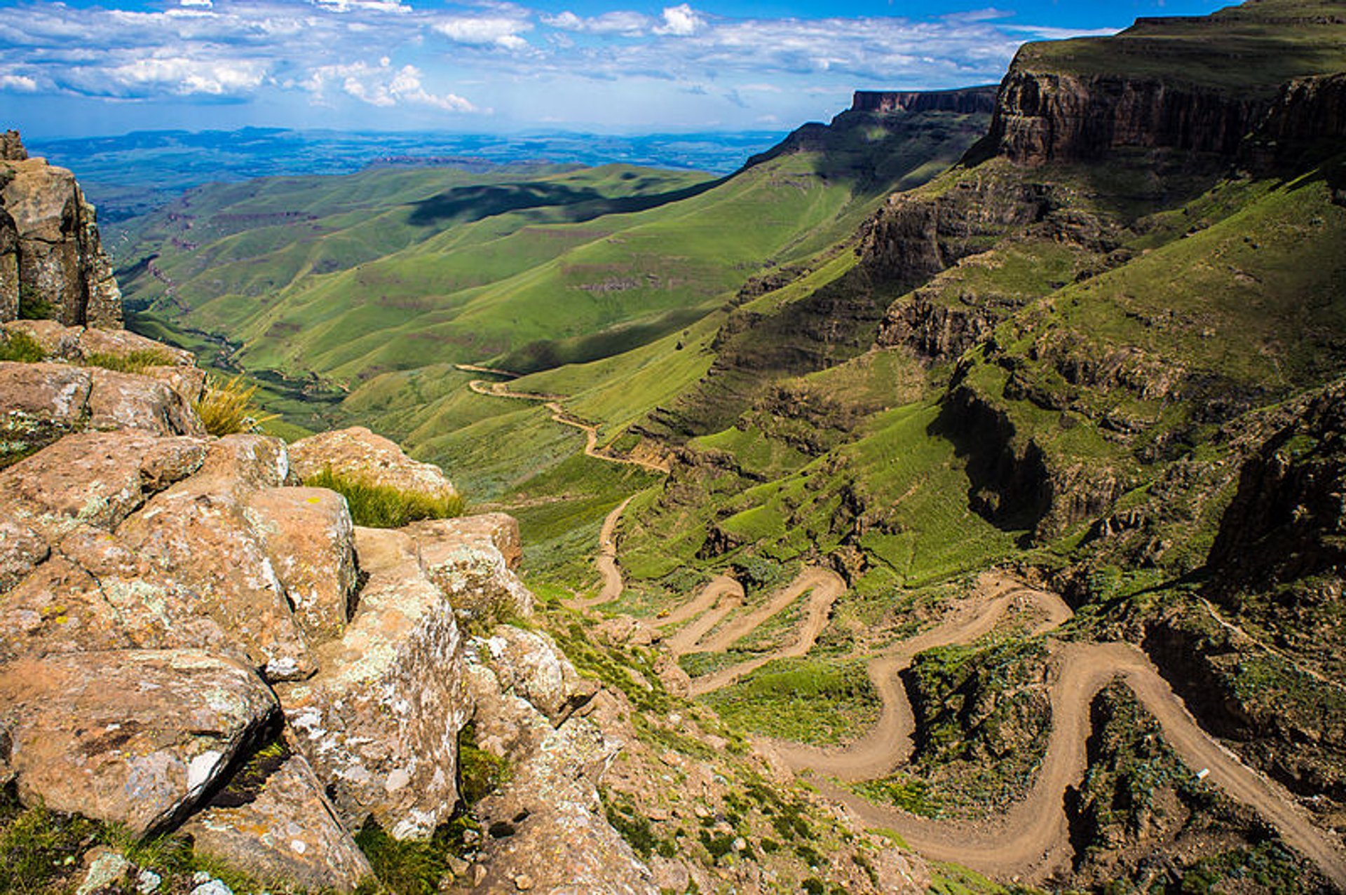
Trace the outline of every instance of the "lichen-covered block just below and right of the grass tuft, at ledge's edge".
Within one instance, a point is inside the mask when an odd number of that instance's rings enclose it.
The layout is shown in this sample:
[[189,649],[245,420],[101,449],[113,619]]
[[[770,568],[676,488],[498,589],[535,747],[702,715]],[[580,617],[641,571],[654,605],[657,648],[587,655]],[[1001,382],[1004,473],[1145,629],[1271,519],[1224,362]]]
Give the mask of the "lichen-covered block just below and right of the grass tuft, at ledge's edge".
[[528,616],[533,594],[513,569],[522,550],[518,522],[503,513],[413,522],[404,529],[425,573],[463,616]]

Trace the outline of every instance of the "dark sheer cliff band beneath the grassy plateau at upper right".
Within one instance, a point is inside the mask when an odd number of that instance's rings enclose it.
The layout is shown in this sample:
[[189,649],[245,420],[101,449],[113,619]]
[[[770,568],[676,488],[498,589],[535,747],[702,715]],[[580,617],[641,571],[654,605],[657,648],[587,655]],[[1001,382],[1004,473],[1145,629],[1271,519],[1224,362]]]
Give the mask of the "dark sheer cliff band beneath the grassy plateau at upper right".
[[984,147],[1020,164],[1092,162],[1125,148],[1230,156],[1267,106],[1211,87],[1032,71],[1016,61]]

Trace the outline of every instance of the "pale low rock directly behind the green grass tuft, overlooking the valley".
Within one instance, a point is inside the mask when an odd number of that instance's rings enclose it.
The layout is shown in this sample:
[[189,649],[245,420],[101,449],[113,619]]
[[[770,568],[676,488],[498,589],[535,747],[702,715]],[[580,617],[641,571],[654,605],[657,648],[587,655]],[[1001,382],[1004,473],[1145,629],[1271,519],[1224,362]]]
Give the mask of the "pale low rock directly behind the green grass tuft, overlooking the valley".
[[454,483],[433,463],[406,456],[397,444],[365,427],[320,432],[289,445],[295,472],[302,479],[331,470],[371,485],[419,491],[435,498],[458,494]]

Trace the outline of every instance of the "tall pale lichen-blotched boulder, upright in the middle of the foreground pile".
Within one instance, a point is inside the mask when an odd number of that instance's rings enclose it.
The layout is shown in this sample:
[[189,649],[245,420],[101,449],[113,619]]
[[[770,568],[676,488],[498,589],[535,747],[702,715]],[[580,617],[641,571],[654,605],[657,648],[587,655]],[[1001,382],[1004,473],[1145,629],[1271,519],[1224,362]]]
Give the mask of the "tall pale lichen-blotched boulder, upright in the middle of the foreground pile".
[[319,673],[279,693],[346,825],[371,814],[397,838],[424,838],[458,801],[463,642],[411,537],[357,528],[355,553],[369,579],[354,618],[316,649]]

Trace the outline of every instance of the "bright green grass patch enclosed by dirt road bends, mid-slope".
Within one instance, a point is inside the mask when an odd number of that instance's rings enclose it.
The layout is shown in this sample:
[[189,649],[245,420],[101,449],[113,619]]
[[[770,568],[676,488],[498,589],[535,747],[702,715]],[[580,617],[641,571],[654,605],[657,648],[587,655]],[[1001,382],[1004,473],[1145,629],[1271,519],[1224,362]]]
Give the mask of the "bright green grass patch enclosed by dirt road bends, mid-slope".
[[861,661],[774,659],[703,700],[739,731],[830,746],[863,736],[879,720],[864,669]]

